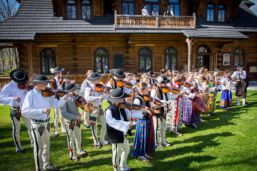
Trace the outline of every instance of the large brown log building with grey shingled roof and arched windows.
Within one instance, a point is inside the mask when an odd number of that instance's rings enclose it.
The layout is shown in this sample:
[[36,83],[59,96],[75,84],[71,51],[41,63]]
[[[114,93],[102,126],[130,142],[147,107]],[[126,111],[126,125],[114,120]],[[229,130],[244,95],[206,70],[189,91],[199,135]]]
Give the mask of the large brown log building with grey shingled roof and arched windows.
[[[241,63],[257,80],[257,16],[248,0],[17,1],[16,14],[0,22],[0,42],[17,47],[30,78],[52,77],[56,66],[81,84],[90,69],[235,71]],[[167,4],[175,16],[164,16]],[[142,15],[143,5],[159,15]]]

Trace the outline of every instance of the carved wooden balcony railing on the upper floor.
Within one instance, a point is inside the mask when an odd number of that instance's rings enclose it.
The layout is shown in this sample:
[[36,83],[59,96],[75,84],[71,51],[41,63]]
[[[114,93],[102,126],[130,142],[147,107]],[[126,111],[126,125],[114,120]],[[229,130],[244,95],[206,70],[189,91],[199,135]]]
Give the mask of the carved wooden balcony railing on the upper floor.
[[196,13],[193,16],[117,15],[114,12],[115,28],[196,28]]

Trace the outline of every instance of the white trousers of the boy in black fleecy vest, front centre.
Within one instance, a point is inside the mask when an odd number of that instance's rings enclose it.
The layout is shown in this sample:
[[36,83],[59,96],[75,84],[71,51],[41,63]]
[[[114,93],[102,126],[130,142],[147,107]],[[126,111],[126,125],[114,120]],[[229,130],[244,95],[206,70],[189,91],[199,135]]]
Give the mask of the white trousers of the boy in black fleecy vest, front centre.
[[[127,168],[127,158],[130,151],[128,139],[124,137],[124,142],[119,144],[112,144],[113,151],[113,169],[114,171],[120,171],[120,168]],[[120,166],[119,166],[120,160]]]

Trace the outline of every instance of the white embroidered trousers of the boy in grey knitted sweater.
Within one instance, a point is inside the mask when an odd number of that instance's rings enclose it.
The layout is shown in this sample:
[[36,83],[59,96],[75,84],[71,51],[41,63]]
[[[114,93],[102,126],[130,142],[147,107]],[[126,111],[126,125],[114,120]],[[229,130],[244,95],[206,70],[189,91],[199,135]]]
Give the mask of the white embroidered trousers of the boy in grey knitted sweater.
[[77,147],[77,154],[82,155],[86,153],[82,149],[81,144],[81,121],[79,120],[65,120],[65,128],[68,139],[68,148],[70,151],[70,160],[76,159],[76,153],[74,149],[74,140]]

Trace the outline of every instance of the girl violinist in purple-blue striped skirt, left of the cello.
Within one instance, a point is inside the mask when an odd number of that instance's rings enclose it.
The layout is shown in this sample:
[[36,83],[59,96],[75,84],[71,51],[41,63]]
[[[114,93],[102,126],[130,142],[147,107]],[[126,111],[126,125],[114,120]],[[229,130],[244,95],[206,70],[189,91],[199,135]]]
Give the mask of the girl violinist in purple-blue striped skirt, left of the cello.
[[[186,82],[193,84],[193,79],[194,79],[194,73],[189,72]],[[195,93],[191,93],[192,89],[193,89],[192,86],[184,87],[184,91],[189,93],[189,95],[184,95],[182,99],[182,104],[183,104],[182,123],[185,124],[185,126],[191,126],[192,128],[198,129],[198,127],[196,126],[196,123],[201,122],[201,117],[193,110],[193,107],[192,107],[192,102],[196,96]]]

